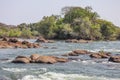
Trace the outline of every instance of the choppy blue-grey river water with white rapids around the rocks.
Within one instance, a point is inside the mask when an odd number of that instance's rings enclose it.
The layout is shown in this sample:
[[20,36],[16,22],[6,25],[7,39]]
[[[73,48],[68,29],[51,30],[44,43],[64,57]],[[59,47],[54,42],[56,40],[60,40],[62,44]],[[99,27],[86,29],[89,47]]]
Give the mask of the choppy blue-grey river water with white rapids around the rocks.
[[[30,40],[34,42],[34,40]],[[61,57],[75,49],[85,49],[92,52],[104,50],[120,54],[120,41],[91,43],[41,43],[48,48],[37,49],[0,49],[0,80],[120,80],[120,63],[108,62],[107,59],[91,59],[81,55],[78,60],[55,64],[14,64],[11,63],[18,55],[30,56],[54,55]],[[9,60],[2,60],[9,59]],[[83,59],[83,61],[79,60]]]

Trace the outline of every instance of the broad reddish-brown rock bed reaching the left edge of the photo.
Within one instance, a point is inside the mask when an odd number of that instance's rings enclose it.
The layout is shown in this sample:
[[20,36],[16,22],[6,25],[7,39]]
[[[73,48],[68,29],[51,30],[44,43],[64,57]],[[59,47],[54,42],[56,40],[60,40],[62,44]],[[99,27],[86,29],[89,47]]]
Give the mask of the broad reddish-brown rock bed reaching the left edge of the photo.
[[39,44],[28,41],[19,41],[15,38],[3,38],[0,40],[0,48],[39,48]]

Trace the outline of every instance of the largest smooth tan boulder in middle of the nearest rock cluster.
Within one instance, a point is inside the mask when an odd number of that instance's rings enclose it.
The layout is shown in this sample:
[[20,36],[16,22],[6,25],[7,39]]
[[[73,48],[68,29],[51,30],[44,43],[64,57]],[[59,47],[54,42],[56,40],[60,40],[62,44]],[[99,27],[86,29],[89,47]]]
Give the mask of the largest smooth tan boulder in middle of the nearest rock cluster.
[[39,56],[35,62],[36,63],[53,64],[53,63],[56,63],[57,60],[50,56]]

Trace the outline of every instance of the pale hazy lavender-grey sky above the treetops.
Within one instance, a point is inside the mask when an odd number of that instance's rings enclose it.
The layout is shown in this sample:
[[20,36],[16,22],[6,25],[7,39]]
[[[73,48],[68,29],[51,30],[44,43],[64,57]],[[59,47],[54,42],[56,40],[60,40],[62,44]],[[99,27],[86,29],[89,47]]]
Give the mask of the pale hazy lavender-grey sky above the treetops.
[[0,0],[0,22],[34,23],[43,16],[60,15],[65,6],[91,6],[102,19],[120,26],[120,0]]

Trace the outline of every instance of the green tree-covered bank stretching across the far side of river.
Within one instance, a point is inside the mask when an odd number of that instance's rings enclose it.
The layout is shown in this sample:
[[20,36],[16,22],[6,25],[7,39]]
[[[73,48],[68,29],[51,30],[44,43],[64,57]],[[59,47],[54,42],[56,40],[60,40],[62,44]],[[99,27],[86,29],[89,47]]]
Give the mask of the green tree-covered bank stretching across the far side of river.
[[17,27],[0,23],[0,37],[120,40],[120,28],[101,19],[91,7],[64,7],[61,12],[61,15],[44,16],[39,22]]

